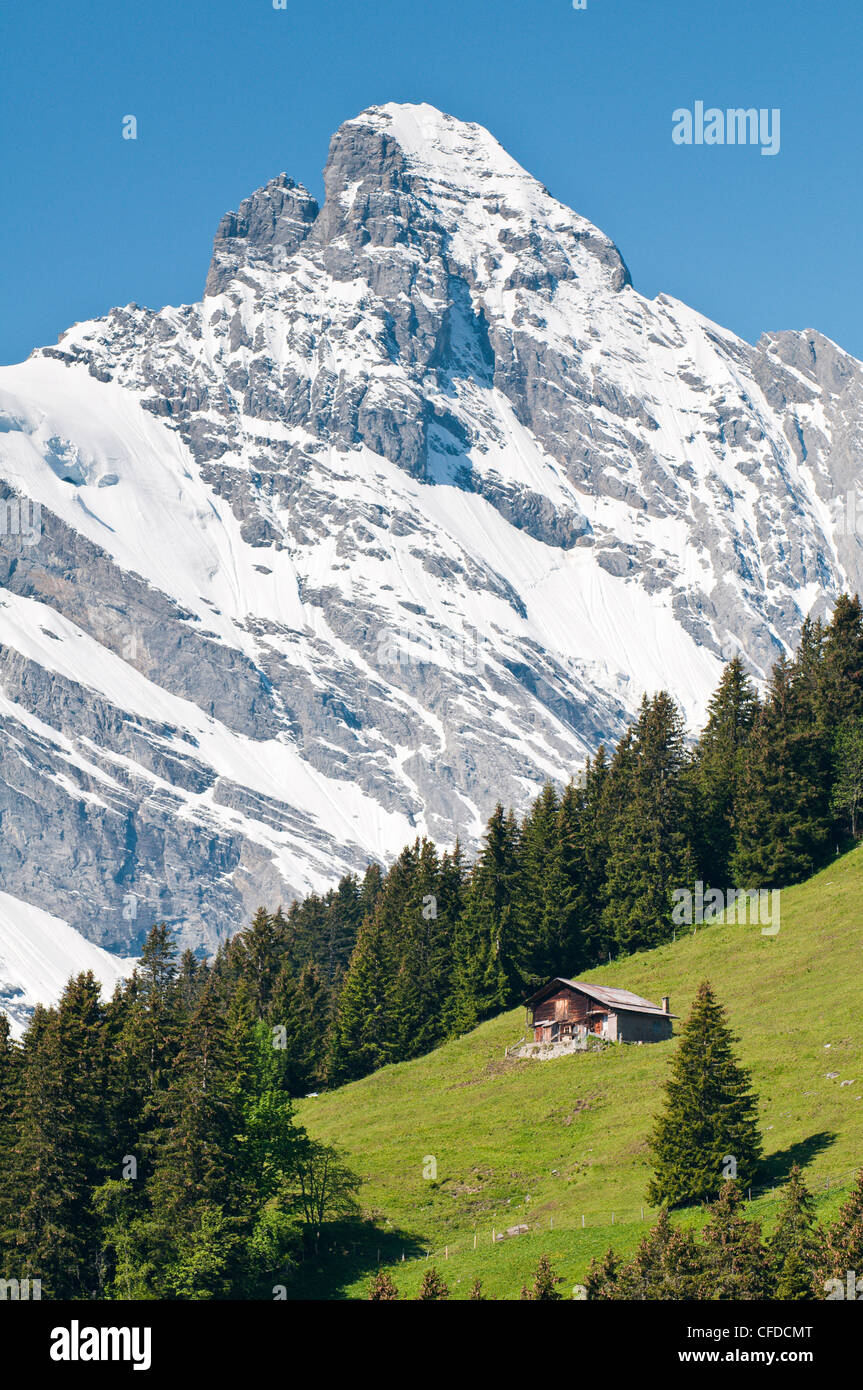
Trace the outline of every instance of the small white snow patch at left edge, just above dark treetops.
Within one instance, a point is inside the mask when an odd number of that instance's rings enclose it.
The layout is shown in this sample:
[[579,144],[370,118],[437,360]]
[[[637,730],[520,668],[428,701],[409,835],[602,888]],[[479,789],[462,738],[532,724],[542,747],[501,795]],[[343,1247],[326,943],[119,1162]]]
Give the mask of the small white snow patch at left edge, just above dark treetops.
[[38,1004],[56,1004],[69,976],[92,970],[110,997],[133,969],[135,959],[111,955],[68,922],[0,892],[0,1006],[13,1037],[21,1037]]

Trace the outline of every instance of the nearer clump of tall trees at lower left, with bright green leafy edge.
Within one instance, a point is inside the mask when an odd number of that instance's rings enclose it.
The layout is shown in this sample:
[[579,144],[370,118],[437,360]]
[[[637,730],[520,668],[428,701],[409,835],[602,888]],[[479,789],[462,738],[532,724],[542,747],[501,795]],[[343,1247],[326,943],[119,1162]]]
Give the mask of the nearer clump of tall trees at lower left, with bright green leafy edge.
[[107,1006],[82,974],[35,1011],[21,1048],[3,1019],[10,1277],[53,1298],[271,1297],[327,1222],[356,1216],[359,1180],[296,1125],[256,1017],[277,935],[258,915],[242,969],[222,954],[178,970],[157,926]]

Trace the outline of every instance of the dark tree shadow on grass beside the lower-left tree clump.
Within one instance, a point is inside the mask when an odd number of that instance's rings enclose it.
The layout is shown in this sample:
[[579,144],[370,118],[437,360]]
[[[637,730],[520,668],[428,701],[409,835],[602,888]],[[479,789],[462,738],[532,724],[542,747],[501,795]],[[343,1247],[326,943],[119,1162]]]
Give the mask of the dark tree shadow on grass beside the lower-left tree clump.
[[289,1300],[345,1298],[359,1279],[368,1282],[381,1265],[424,1255],[427,1241],[404,1230],[372,1222],[331,1222],[321,1229],[317,1251],[306,1250],[286,1280]]

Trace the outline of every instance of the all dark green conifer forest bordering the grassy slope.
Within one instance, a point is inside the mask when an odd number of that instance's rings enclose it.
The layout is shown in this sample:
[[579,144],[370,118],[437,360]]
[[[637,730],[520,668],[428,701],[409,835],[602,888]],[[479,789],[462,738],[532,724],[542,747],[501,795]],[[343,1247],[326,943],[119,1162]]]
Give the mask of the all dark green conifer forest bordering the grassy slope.
[[[806,878],[859,835],[862,796],[863,613],[842,598],[828,626],[805,626],[763,698],[732,660],[695,742],[667,694],[645,698],[578,781],[545,787],[521,819],[498,806],[474,863],[417,840],[386,870],[261,908],[208,962],[178,958],[153,927],[113,999],[79,976],[21,1044],[0,1013],[3,1264],[53,1298],[296,1297],[322,1233],[360,1220],[356,1176],[304,1133],[297,1097],[428,1052],[552,976],[671,940],[678,888]],[[748,1077],[709,990],[699,1008],[698,1029],[718,1030],[730,1152],[755,1166]],[[678,1068],[696,1065],[695,1029]],[[700,1162],[677,1152],[681,1133],[660,1122],[653,1137],[655,1195],[670,1207],[717,1191],[716,1155],[703,1190],[681,1187]],[[728,1297],[807,1295],[799,1175],[769,1245],[734,1194],[727,1184],[700,1244],[663,1218],[630,1265],[592,1270],[589,1295],[699,1297],[731,1248]],[[860,1248],[860,1201],[857,1187],[830,1236],[838,1264]],[[655,1291],[657,1270],[677,1293]],[[442,1297],[435,1287],[422,1297]]]

